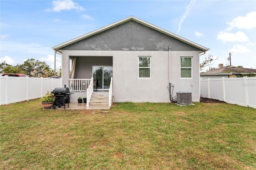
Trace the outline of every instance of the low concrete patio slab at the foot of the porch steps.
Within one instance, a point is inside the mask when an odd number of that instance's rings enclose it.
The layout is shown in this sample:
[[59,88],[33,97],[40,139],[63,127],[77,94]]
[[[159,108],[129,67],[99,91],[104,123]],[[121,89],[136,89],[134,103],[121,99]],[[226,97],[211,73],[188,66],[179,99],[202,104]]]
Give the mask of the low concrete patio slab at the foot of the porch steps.
[[[109,110],[111,106],[108,105],[89,105],[86,106],[86,103],[66,103],[65,110]],[[47,109],[48,110],[48,109]],[[56,107],[56,109],[51,110],[64,110],[64,106]]]

